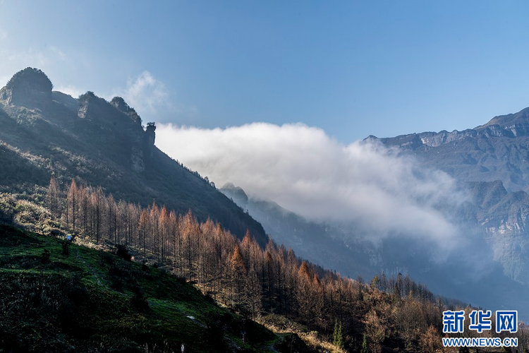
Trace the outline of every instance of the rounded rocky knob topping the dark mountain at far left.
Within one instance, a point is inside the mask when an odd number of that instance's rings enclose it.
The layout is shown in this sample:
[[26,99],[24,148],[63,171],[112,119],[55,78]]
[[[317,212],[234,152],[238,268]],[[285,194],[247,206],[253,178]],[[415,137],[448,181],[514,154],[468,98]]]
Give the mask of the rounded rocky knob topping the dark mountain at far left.
[[48,110],[51,107],[53,84],[38,68],[25,68],[15,73],[0,90],[0,100],[7,105]]

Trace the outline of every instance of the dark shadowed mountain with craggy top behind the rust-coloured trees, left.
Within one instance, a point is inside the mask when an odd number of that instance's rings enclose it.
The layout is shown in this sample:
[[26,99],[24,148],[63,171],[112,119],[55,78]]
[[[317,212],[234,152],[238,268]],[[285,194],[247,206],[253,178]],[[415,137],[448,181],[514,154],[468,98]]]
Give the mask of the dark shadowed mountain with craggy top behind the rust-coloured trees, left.
[[77,99],[52,90],[45,73],[25,68],[0,90],[0,186],[44,188],[54,176],[102,186],[141,205],[165,204],[178,213],[211,217],[238,237],[247,230],[264,246],[262,226],[197,172],[160,151],[154,123],[142,126],[121,97],[110,102],[86,92]]

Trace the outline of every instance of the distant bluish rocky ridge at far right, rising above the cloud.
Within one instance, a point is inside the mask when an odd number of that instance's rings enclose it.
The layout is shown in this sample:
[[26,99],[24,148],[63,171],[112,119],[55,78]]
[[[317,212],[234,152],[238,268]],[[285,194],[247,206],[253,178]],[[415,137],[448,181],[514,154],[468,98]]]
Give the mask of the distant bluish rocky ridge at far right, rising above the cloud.
[[507,191],[529,190],[529,108],[464,131],[368,139],[416,155],[425,167],[461,181],[501,180]]

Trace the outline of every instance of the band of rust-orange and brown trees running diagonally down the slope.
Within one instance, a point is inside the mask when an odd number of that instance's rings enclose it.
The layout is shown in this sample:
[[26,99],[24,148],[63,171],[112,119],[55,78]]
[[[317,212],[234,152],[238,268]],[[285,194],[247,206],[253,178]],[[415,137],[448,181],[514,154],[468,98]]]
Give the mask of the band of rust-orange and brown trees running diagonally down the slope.
[[274,313],[324,337],[339,332],[334,341],[355,352],[442,349],[448,307],[408,275],[377,275],[366,284],[303,261],[271,239],[262,248],[249,232],[240,240],[212,220],[197,222],[191,211],[176,214],[155,202],[142,208],[75,180],[62,190],[52,178],[47,208],[68,231],[130,246],[250,318]]

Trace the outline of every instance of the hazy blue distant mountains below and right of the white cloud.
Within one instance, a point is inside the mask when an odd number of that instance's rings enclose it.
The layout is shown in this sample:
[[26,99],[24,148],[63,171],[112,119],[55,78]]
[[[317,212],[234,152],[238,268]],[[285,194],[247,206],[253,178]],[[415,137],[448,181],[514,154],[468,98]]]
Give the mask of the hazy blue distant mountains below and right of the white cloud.
[[[468,201],[442,211],[472,239],[465,245],[468,249],[437,263],[432,249],[414,241],[386,239],[375,246],[358,237],[354,225],[310,222],[272,201],[248,198],[230,184],[221,191],[260,221],[272,238],[325,267],[365,277],[409,272],[434,292],[529,312],[522,294],[529,289],[529,108],[465,131],[365,140],[413,155],[425,169],[440,169],[460,183]],[[462,259],[465,253],[480,258],[477,267],[485,267],[481,273],[464,268],[469,265]]]

